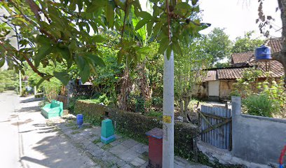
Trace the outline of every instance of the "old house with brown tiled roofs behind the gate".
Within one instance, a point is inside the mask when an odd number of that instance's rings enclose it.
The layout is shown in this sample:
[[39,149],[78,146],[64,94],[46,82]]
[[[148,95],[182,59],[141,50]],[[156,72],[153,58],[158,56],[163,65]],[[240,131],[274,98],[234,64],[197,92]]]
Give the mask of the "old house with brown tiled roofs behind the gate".
[[[280,52],[281,38],[271,38],[266,45],[271,47],[271,53]],[[203,84],[197,88],[194,96],[210,100],[229,99],[233,83],[243,77],[243,71],[254,67],[263,71],[258,80],[266,79],[266,72],[271,73],[272,78],[284,76],[283,66],[275,60],[257,62],[254,51],[234,53],[231,55],[231,66],[224,68],[207,69],[207,76]]]

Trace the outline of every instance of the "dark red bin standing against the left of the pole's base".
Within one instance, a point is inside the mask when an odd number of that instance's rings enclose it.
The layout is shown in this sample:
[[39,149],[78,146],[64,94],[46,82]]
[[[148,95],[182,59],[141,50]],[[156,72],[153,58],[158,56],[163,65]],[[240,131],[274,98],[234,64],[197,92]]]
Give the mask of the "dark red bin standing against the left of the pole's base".
[[148,168],[161,168],[163,155],[163,130],[154,128],[146,132],[149,138]]

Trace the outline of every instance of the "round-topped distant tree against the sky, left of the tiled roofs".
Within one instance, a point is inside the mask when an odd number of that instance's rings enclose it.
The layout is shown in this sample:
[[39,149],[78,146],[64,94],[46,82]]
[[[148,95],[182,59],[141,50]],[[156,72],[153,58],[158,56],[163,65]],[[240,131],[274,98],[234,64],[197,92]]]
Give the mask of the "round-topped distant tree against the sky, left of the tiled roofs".
[[210,34],[206,36],[205,52],[212,55],[212,64],[219,60],[229,58],[231,55],[231,40],[224,32],[224,29],[214,28]]

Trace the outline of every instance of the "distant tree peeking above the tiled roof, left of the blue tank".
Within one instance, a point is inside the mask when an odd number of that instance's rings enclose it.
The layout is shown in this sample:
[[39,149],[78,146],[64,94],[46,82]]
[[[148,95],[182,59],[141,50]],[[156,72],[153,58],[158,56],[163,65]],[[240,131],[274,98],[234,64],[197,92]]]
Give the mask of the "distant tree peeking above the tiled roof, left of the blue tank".
[[264,40],[259,38],[252,38],[254,31],[248,31],[243,37],[237,37],[236,42],[231,48],[231,52],[247,52],[254,51],[255,48],[259,47],[264,43]]

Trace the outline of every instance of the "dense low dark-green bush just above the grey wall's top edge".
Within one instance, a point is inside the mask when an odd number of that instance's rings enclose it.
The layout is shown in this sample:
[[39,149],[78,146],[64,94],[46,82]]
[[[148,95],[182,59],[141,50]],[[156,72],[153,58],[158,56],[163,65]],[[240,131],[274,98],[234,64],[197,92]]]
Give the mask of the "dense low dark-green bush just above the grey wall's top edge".
[[247,97],[243,99],[243,105],[247,113],[254,116],[272,117],[279,109],[278,104],[275,104],[266,94]]

